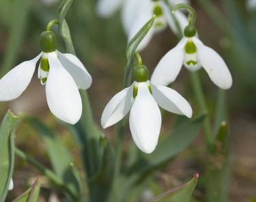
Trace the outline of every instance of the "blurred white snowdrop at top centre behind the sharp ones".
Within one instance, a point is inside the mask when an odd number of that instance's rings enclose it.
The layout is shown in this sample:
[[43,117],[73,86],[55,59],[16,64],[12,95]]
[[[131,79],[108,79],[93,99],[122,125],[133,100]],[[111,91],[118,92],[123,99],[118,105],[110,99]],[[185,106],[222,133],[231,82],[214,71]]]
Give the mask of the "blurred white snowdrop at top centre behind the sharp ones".
[[[188,3],[187,1],[182,0],[169,0],[171,5],[175,3]],[[164,30],[167,25],[171,30],[177,34],[178,30],[175,26],[173,16],[170,12],[170,8],[162,1],[152,1],[152,0],[125,0],[124,7],[122,10],[122,23],[124,25],[124,30],[128,35],[128,41],[130,41],[134,35],[147,23],[152,16],[156,14],[156,19],[152,29],[149,33],[145,35],[145,38],[142,40],[141,44],[137,48],[138,51],[143,50],[149,44],[154,33]],[[188,20],[186,16],[177,11],[174,14],[179,23],[181,29],[183,30],[186,25],[188,25]]]

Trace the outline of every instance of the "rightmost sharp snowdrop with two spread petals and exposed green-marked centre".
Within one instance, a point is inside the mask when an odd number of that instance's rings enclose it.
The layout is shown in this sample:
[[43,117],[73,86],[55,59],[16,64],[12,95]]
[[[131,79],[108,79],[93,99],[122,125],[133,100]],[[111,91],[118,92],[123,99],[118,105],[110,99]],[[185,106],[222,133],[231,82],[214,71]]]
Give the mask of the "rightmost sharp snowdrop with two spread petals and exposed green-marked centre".
[[190,25],[184,29],[184,38],[160,59],[152,74],[152,83],[157,85],[172,83],[184,65],[191,71],[203,67],[215,85],[229,89],[232,85],[232,77],[225,61],[216,51],[205,46],[197,38],[192,21],[190,20]]

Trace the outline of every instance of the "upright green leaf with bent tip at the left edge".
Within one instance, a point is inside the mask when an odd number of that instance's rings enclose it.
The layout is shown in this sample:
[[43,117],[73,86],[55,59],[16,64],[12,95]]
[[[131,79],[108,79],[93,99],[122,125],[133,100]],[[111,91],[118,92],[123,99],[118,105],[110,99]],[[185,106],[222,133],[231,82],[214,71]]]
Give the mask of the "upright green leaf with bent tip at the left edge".
[[0,201],[5,201],[14,170],[14,128],[18,122],[10,111],[5,114],[0,128]]

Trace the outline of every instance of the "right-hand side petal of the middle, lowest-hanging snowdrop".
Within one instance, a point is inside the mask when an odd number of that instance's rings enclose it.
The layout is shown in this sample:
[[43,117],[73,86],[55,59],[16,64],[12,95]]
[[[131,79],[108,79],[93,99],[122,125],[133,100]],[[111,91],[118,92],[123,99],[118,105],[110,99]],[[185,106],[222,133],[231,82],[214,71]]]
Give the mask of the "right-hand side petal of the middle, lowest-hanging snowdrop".
[[162,85],[151,85],[153,97],[157,104],[171,113],[192,117],[190,104],[177,91]]

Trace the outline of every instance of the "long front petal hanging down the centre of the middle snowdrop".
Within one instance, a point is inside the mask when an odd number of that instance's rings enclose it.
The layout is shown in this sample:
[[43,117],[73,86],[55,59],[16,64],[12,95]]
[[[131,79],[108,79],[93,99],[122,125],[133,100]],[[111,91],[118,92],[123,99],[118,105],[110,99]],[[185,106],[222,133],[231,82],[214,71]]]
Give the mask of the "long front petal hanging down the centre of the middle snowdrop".
[[147,83],[139,83],[138,94],[130,110],[130,131],[134,143],[150,154],[156,148],[161,128],[161,113]]

